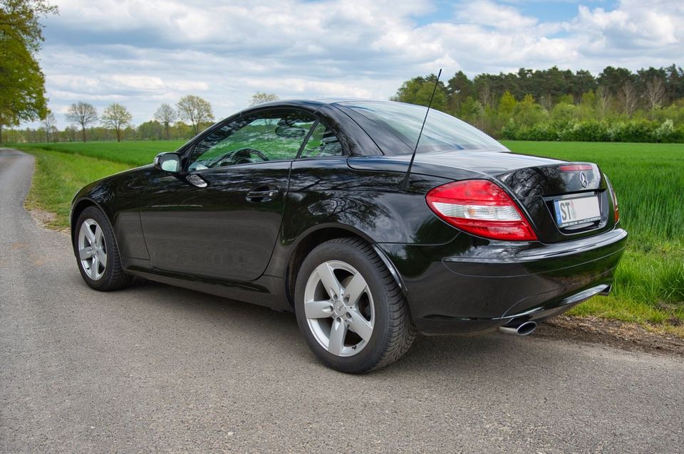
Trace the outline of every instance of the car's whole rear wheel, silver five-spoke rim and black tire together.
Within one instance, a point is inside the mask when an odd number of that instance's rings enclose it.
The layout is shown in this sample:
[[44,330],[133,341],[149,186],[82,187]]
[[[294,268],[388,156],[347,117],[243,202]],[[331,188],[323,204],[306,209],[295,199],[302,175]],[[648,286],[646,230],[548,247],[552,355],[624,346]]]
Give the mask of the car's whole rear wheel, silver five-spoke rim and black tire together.
[[338,371],[386,366],[415,339],[400,287],[358,238],[327,241],[311,251],[297,278],[295,310],[309,348]]

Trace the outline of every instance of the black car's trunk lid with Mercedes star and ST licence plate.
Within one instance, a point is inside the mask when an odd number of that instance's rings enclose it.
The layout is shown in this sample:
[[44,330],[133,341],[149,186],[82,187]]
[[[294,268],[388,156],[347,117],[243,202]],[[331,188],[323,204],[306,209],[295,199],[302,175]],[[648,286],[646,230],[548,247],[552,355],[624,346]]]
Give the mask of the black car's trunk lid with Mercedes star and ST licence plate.
[[[406,171],[408,162],[410,155],[348,159],[350,167],[368,170]],[[416,154],[411,173],[495,181],[519,204],[544,243],[596,235],[615,224],[608,184],[596,164],[507,152],[455,151]],[[571,213],[577,215],[574,220]]]

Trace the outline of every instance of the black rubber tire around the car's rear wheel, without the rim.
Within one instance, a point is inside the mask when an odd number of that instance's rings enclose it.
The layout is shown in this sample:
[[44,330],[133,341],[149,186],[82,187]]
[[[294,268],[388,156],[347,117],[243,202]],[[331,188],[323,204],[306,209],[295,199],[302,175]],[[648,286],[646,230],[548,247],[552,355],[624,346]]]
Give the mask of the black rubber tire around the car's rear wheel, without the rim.
[[[316,340],[304,310],[305,287],[318,265],[341,260],[361,273],[373,295],[375,324],[367,344],[350,357],[331,354]],[[362,374],[387,366],[408,352],[416,336],[408,303],[399,285],[373,248],[360,238],[337,238],[306,256],[297,275],[295,312],[306,344],[318,359],[337,371]]]

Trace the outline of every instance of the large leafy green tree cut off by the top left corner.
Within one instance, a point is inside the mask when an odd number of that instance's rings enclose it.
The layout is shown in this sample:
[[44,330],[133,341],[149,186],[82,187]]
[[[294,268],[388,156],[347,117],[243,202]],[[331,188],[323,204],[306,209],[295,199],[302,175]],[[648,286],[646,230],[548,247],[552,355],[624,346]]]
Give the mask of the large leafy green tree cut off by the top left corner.
[[36,60],[44,41],[39,20],[56,13],[45,0],[0,0],[0,144],[3,127],[46,115],[45,77]]

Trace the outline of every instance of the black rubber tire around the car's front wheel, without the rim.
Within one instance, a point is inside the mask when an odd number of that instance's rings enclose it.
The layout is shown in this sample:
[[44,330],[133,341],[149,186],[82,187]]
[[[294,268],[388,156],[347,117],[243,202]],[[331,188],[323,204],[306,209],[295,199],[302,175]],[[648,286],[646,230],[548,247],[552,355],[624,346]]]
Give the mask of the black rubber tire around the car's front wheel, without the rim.
[[[81,227],[83,223],[92,219],[97,223],[102,229],[103,233],[103,246],[106,253],[107,263],[103,266],[102,275],[98,279],[93,279],[86,268],[84,268],[83,261],[79,256],[78,251],[78,241],[79,233],[81,232]],[[110,290],[118,290],[123,287],[127,287],[133,282],[133,276],[124,273],[121,267],[121,260],[119,257],[119,250],[116,245],[116,238],[112,230],[112,226],[109,223],[109,219],[105,214],[100,211],[100,208],[96,206],[88,206],[84,209],[78,220],[76,221],[76,226],[74,226],[73,233],[73,251],[76,255],[76,264],[78,265],[78,270],[81,272],[81,277],[86,281],[88,286],[94,288],[95,290],[100,290],[102,292],[108,292]]]

